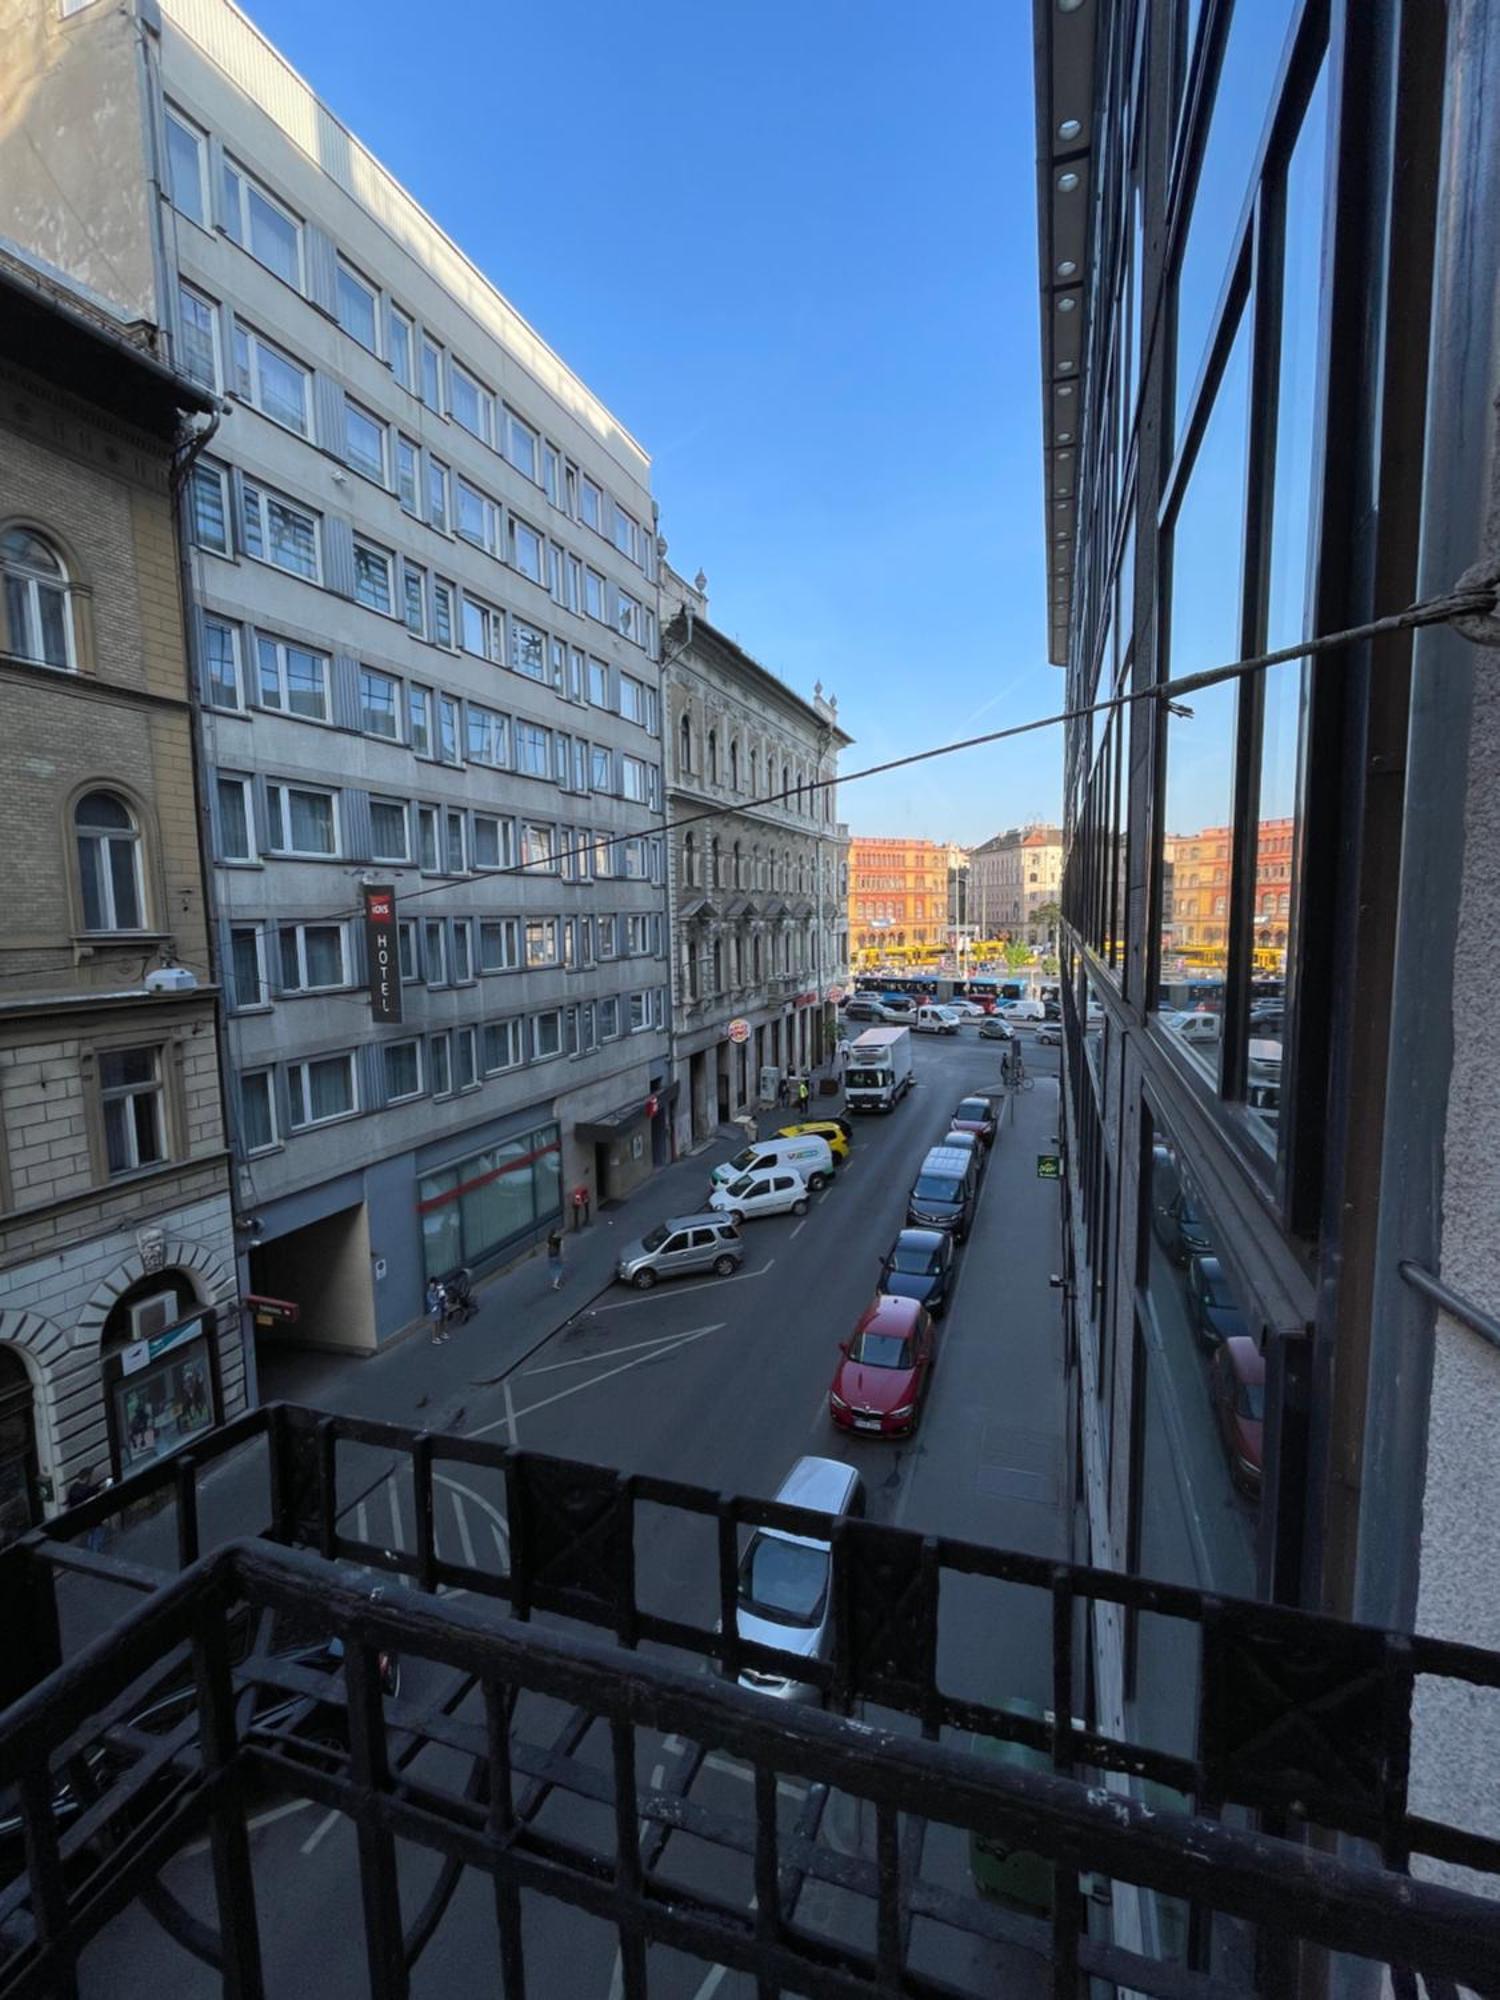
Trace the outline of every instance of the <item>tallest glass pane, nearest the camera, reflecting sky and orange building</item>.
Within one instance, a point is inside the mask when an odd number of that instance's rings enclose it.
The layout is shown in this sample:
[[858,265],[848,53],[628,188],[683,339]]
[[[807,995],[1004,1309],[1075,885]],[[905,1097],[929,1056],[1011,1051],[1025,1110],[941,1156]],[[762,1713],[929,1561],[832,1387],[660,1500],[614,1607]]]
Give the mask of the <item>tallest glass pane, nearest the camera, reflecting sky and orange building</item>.
[[[1328,78],[1320,76],[1286,174],[1282,344],[1272,484],[1266,648],[1290,646],[1308,624],[1310,502],[1318,408],[1318,278],[1322,266]],[[1256,804],[1256,902],[1248,988],[1244,1096],[1252,1126],[1276,1142],[1282,1094],[1288,954],[1302,862],[1300,758],[1306,666],[1288,660],[1262,674]]]

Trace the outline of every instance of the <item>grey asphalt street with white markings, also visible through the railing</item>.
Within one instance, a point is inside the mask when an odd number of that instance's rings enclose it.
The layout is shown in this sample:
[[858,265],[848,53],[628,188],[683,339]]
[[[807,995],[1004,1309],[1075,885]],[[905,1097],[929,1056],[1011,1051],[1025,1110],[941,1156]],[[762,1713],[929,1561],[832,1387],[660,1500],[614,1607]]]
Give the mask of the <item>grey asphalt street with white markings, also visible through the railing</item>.
[[[804,1452],[842,1458],[860,1468],[868,1512],[876,1520],[1024,1548],[1066,1554],[1064,1376],[1058,1294],[1048,1278],[1058,1266],[1058,1190],[1040,1180],[1036,1156],[1056,1150],[1056,1050],[1028,1046],[1034,1088],[1004,1100],[1004,1120],[982,1182],[976,1226],[960,1250],[960,1276],[948,1314],[938,1326],[938,1360],[928,1408],[916,1438],[904,1444],[852,1438],[828,1422],[828,1382],[846,1336],[868,1304],[878,1260],[902,1226],[906,1192],[922,1152],[948,1130],[948,1114],[970,1090],[998,1090],[1000,1046],[974,1030],[956,1040],[922,1038],[916,1046],[918,1088],[888,1116],[856,1124],[852,1160],[832,1188],[814,1198],[804,1218],[746,1224],[746,1262],[734,1278],[678,1280],[648,1294],[612,1288],[578,1300],[574,1318],[498,1380],[476,1372],[478,1348],[454,1358],[436,1350],[434,1366],[462,1366],[462,1428],[470,1436],[558,1452],[624,1470],[652,1472],[742,1494],[776,1492]],[[728,1148],[714,1148],[674,1174],[676,1188]],[[648,1226],[644,1202],[616,1218],[620,1236]],[[428,1350],[432,1352],[432,1350]],[[420,1356],[418,1356],[420,1358]],[[410,1370],[408,1370],[410,1374]],[[368,1404],[372,1376],[362,1380]],[[392,1380],[396,1380],[392,1376]],[[446,1384],[444,1384],[446,1394]],[[458,1394],[458,1388],[452,1390]],[[410,1400],[402,1390],[400,1402]],[[424,1398],[426,1400],[426,1398]],[[442,1396],[438,1398],[442,1402]],[[452,1414],[452,1402],[448,1402]],[[408,1408],[388,1412],[410,1422]],[[440,1428],[440,1412],[422,1420]],[[410,1496],[380,1478],[370,1454],[370,1480],[360,1480],[352,1456],[346,1488],[362,1492],[346,1528],[382,1546],[410,1546]],[[226,1478],[206,1508],[210,1540],[258,1526],[236,1502],[240,1480]],[[162,1530],[142,1530],[146,1534]],[[710,1622],[714,1616],[712,1528],[662,1512],[638,1538],[642,1602],[652,1610]],[[442,1476],[438,1492],[440,1554],[464,1562],[504,1564],[506,1520],[498,1480],[470,1468]],[[1028,1592],[994,1584],[944,1584],[938,1672],[944,1688],[988,1700],[1006,1694],[1048,1700],[1048,1606]],[[390,1588],[390,1584],[388,1584]],[[432,1668],[406,1662],[406,1698],[440,1692]],[[554,1718],[542,1704],[522,1704],[518,1730],[546,1734]],[[688,1746],[672,1738],[642,1738],[642,1782],[670,1782]],[[590,1732],[576,1748],[584,1762],[608,1770],[608,1738]],[[462,1772],[432,1754],[420,1766],[428,1778],[462,1782]],[[748,1770],[710,1758],[690,1796],[706,1806],[744,1810]],[[790,1826],[802,1808],[794,1780],[782,1788]],[[540,1824],[588,1826],[576,1800],[554,1800]],[[600,1846],[612,1834],[600,1818]],[[354,1834],[304,1800],[274,1800],[254,1828],[256,1888],[270,1992],[294,1992],[316,1978],[320,2000],[366,1992],[360,1904],[354,1876]],[[818,1840],[836,1850],[874,1854],[874,1826],[858,1802],[834,1794]],[[748,1868],[688,1836],[674,1836],[666,1874],[718,1892]],[[968,1888],[964,1842],[934,1828],[924,1850],[924,1874],[948,1888]],[[736,1872],[738,1870],[738,1872]],[[410,1920],[434,1878],[418,1852],[402,1854],[402,1906]],[[180,1856],[168,1886],[208,1916],[212,1910],[206,1854]],[[746,1898],[750,1888],[746,1884]],[[810,1884],[798,1922],[830,1936],[868,1942],[868,1906]],[[338,1946],[330,1944],[338,1938]],[[616,2000],[622,1990],[614,1934],[556,1904],[532,1902],[526,1912],[530,1992]],[[1034,1960],[980,1946],[954,1932],[918,1936],[920,1962],[974,1990],[1030,1994],[1046,1990]],[[660,1960],[660,1962],[658,1962]],[[494,1900],[468,1876],[422,1960],[412,1992],[446,2000],[496,1990]],[[720,1968],[652,1954],[652,1994],[668,2000],[738,2000],[752,1988]],[[146,1996],[170,1982],[174,1994],[212,1994],[206,1968],[166,1942],[140,1910],[120,1916],[82,1968],[84,1994]]]

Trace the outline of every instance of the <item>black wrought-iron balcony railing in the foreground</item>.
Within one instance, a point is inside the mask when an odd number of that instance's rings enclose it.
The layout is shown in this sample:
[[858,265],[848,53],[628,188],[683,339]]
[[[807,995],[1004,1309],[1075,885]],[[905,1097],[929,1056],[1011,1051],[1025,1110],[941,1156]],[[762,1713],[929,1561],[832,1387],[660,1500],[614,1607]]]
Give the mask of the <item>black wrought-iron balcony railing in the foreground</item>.
[[[244,1534],[200,1556],[202,1468],[246,1454],[260,1536],[242,1522]],[[450,1466],[502,1496],[494,1564],[440,1550],[434,1476]],[[382,1484],[412,1504],[412,1548],[348,1532]],[[120,1528],[120,1552],[80,1546],[150,1496],[170,1512]],[[830,1538],[830,1660],[740,1640],[738,1558],[754,1526]],[[656,1608],[684,1532],[702,1540],[696,1618]],[[126,1552],[152,1536],[182,1574],[142,1560],[150,1550]],[[354,1566],[406,1588],[372,1594]],[[1016,1712],[1004,1690],[978,1700],[940,1684],[940,1604],[974,1580],[994,1594],[996,1618],[1046,1608],[1050,1716]],[[142,1602],[62,1664],[78,1592],[106,1586]],[[1178,1620],[1196,1638],[1190,1752],[1074,1724],[1078,1620],[1110,1608]],[[544,1628],[530,1622],[538,1616]],[[270,1640],[232,1664],[234,1632],[266,1634],[278,1620],[342,1640],[338,1668],[310,1674]],[[286,1406],[6,1550],[0,1630],[10,1682],[0,1798],[18,1798],[26,1840],[26,1872],[0,1890],[0,1996],[74,1994],[88,1942],[148,1898],[158,1924],[220,1970],[224,1992],[254,2000],[262,1932],[276,1922],[274,1906],[256,1902],[244,1820],[258,1776],[354,1824],[368,1990],[382,2000],[408,1992],[470,1868],[494,1888],[490,1946],[506,1994],[526,1986],[522,1910],[538,1900],[614,1926],[626,1996],[652,1990],[654,1948],[738,1968],[764,1992],[986,1992],[988,1976],[954,1984],[976,1962],[976,1940],[1046,1968],[1054,1994],[1082,1994],[1088,1978],[1194,2000],[1298,1994],[1326,1950],[1392,1968],[1396,1992],[1414,1992],[1414,1976],[1434,1994],[1444,1982],[1478,1992],[1500,1982],[1500,1904],[1408,1872],[1428,1856],[1500,1874],[1498,1840],[1408,1802],[1414,1684],[1500,1686],[1500,1658],[1474,1648]],[[392,1654],[408,1680],[412,1662],[426,1662],[424,1682],[436,1674],[446,1692],[390,1692],[380,1660]],[[746,1668],[816,1684],[832,1712],[736,1686]],[[158,1734],[134,1726],[172,1674],[192,1690],[182,1720]],[[336,1710],[338,1750],[312,1754],[266,1720],[280,1714],[268,1696]],[[1052,1768],[976,1756],[970,1732],[1020,1742]],[[670,1778],[644,1754],[662,1740],[680,1748]],[[710,1756],[752,1778],[744,1810],[694,1796]],[[788,1778],[792,1816],[780,1804]],[[1170,1788],[1182,1810],[1160,1810],[1160,1794],[1142,1804],[1128,1780]],[[834,1794],[858,1802],[868,1824],[854,1848],[822,1838]],[[1024,1916],[940,1878],[924,1866],[932,1826],[1050,1862],[1050,1914]],[[212,1922],[162,1882],[168,1858],[202,1838]],[[724,1856],[724,1878],[686,1888],[664,1864],[684,1840]],[[440,1856],[440,1870],[402,1924],[398,1854],[414,1848]],[[1198,1936],[1216,1914],[1242,1926],[1254,1984],[1096,1934],[1084,1870],[1114,1882],[1116,1898],[1134,1884],[1186,1902]],[[830,1936],[808,1908],[812,1886],[864,1908],[868,1924]],[[960,1946],[942,1974],[934,1936]],[[476,1968],[474,1980],[478,1990],[486,1976]]]

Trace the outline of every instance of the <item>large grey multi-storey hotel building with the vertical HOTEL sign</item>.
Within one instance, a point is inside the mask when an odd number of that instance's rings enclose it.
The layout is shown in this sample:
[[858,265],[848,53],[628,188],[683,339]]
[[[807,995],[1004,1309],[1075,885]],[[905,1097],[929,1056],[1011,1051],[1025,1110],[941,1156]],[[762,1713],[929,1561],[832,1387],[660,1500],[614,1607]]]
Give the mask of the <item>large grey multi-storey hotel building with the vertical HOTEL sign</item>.
[[224,398],[188,512],[246,1288],[370,1348],[666,1156],[650,464],[228,0],[0,16],[0,230]]

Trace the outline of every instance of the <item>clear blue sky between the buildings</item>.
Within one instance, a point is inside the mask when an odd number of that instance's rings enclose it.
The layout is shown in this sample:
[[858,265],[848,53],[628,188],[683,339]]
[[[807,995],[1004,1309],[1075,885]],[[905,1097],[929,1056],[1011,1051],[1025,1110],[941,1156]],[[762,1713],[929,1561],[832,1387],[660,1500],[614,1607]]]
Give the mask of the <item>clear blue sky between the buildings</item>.
[[[1060,706],[1024,0],[248,0],[654,458],[670,560],[846,768]],[[1062,740],[852,784],[982,840]]]

